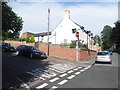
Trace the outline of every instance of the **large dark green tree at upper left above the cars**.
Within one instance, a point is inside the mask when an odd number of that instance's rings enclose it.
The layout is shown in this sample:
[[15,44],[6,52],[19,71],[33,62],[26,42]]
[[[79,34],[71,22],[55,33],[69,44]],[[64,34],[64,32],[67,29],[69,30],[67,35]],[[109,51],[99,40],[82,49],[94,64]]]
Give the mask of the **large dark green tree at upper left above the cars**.
[[23,20],[6,2],[2,2],[2,37],[18,38],[23,27]]

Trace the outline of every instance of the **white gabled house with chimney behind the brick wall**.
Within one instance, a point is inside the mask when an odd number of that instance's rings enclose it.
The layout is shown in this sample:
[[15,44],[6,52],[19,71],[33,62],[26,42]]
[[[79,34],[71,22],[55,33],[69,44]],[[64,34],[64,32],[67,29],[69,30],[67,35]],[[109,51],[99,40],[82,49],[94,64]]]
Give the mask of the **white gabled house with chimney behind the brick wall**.
[[[90,45],[90,41],[93,41],[91,38],[92,36],[87,34],[87,31],[84,30],[83,26],[70,19],[70,11],[67,9],[64,11],[62,21],[50,35],[49,42],[52,44],[61,44],[71,43],[71,41],[77,40],[76,33],[72,33],[72,29],[76,29],[79,32],[79,39],[83,44],[88,43],[89,48],[92,48],[92,44]],[[44,40],[47,40],[47,38],[44,37]]]

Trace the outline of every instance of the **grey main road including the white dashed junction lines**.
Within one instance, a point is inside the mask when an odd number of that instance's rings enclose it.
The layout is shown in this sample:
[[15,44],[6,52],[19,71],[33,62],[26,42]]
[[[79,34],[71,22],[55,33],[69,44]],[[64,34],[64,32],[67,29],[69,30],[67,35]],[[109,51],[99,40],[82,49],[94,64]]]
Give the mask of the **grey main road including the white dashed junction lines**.
[[66,76],[60,77],[58,75],[51,80],[37,84],[33,88],[49,88],[49,90],[56,88],[113,88],[113,90],[118,90],[119,57],[120,55],[113,53],[112,64],[97,63],[85,68],[72,69],[72,73],[64,73]]

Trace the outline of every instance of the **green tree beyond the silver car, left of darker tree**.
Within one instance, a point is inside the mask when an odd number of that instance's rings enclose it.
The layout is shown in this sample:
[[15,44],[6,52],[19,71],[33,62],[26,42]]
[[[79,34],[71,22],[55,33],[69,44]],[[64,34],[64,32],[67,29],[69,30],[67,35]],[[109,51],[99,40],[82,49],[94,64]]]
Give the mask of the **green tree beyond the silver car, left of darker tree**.
[[110,35],[112,32],[112,27],[109,25],[104,26],[103,31],[101,32],[102,40],[102,49],[107,50],[111,47]]

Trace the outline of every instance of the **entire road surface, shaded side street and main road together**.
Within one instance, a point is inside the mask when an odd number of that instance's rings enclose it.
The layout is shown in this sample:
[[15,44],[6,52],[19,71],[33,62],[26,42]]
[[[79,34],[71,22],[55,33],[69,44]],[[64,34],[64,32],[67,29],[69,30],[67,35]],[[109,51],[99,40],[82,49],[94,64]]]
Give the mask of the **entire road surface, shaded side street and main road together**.
[[112,64],[79,65],[66,60],[44,60],[3,53],[3,88],[117,88],[118,57]]

